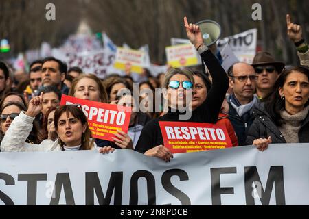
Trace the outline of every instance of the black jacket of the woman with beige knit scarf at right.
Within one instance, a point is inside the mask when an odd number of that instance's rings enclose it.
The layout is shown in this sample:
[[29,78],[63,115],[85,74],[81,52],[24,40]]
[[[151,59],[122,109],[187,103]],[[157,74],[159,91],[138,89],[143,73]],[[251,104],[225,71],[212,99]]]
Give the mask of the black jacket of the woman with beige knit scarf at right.
[[[286,144],[284,136],[279,131],[279,128],[273,122],[271,116],[269,116],[266,110],[259,110],[255,108],[253,110],[253,115],[255,116],[255,120],[248,132],[246,141],[247,145],[252,145],[255,139],[268,138],[269,136],[271,136],[273,144]],[[309,142],[309,114],[301,124],[301,129],[299,130],[298,136],[299,143]]]

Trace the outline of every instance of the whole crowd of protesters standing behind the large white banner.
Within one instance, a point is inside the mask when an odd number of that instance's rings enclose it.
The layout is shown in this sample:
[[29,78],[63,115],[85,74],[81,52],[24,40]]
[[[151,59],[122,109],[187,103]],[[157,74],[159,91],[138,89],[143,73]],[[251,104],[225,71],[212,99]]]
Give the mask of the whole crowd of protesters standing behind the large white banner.
[[[12,69],[0,62],[1,151],[97,149],[109,153],[128,149],[170,162],[173,155],[163,144],[159,121],[223,125],[231,146],[254,145],[260,151],[269,144],[309,142],[309,48],[301,27],[291,23],[288,15],[286,21],[299,66],[286,67],[271,53],[261,51],[253,64],[237,62],[225,72],[204,44],[199,27],[185,18],[187,37],[207,66],[207,74],[203,67],[169,68],[153,77],[145,69],[146,80],[138,81],[139,99],[133,93],[137,81],[130,75],[130,66],[125,76],[110,74],[100,79],[84,74],[78,66],[68,70],[65,62],[46,57],[30,64],[27,74],[14,75],[12,81]],[[12,86],[16,81],[17,86]],[[157,88],[165,88],[159,95],[159,111]],[[128,133],[117,131],[113,142],[93,138],[80,106],[60,106],[62,94],[130,107]],[[141,103],[146,103],[143,112]],[[190,116],[181,119],[188,106]]]

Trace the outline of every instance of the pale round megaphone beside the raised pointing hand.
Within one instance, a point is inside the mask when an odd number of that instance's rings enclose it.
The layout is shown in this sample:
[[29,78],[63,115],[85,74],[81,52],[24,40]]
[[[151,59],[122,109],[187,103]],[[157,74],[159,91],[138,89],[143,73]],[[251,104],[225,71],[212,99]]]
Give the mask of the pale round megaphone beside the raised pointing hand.
[[203,20],[196,23],[200,27],[204,43],[207,47],[215,44],[221,36],[221,27],[216,21]]

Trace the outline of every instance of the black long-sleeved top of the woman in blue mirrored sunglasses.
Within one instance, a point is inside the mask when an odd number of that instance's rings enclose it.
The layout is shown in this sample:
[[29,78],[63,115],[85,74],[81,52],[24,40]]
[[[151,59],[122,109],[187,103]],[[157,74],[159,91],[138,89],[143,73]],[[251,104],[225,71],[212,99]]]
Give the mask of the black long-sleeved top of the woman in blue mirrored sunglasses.
[[141,137],[135,151],[140,153],[145,153],[149,149],[155,146],[163,145],[163,138],[161,129],[159,126],[159,121],[170,121],[170,122],[192,122],[192,123],[216,123],[218,120],[218,114],[220,112],[223,100],[225,99],[225,94],[229,88],[229,79],[227,73],[222,68],[216,57],[207,50],[201,54],[201,57],[211,77],[213,79],[213,86],[209,93],[207,94],[207,99],[205,102],[192,112],[192,116],[188,120],[179,120],[179,112],[171,112],[151,120],[141,131]]

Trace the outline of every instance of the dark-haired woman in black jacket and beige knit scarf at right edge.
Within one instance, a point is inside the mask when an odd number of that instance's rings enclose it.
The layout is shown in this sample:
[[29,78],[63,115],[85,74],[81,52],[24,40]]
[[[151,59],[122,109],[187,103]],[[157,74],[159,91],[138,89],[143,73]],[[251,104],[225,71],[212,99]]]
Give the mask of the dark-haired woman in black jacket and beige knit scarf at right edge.
[[275,84],[275,92],[264,110],[253,111],[247,145],[260,151],[268,144],[309,142],[309,68],[285,70]]

